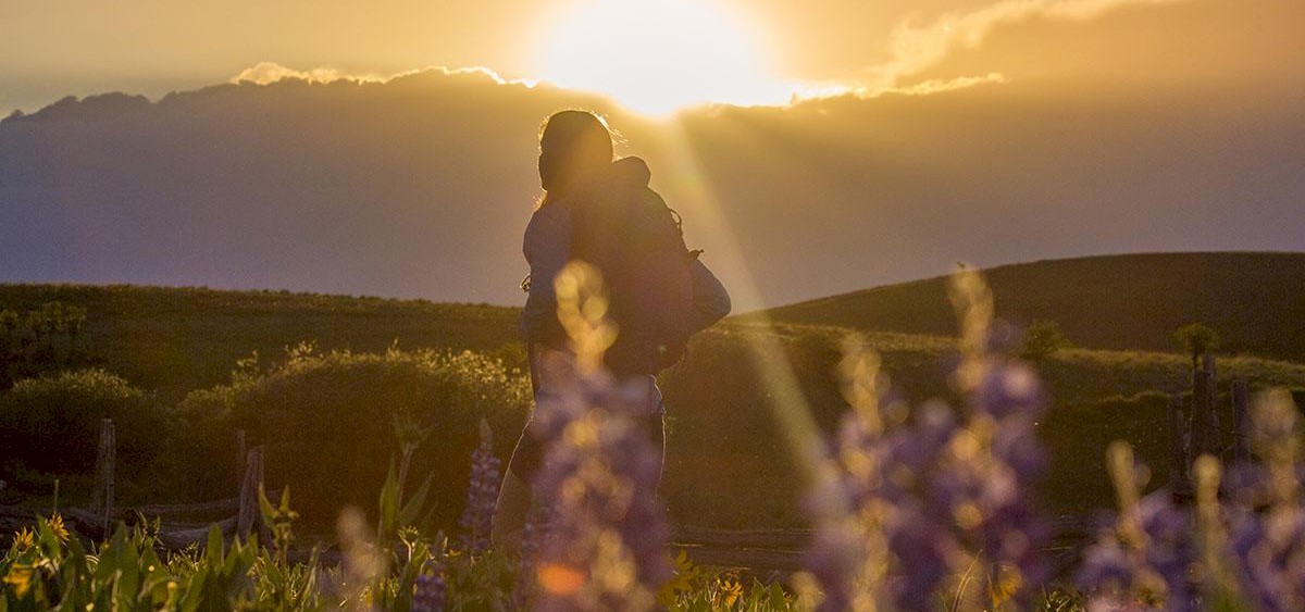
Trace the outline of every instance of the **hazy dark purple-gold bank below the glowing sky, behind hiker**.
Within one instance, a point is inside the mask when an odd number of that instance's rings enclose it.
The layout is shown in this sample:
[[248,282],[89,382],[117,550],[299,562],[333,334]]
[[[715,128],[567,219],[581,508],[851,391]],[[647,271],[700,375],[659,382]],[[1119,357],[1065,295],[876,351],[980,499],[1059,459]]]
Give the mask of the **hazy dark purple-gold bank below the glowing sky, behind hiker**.
[[660,123],[436,69],[69,98],[5,119],[0,281],[515,305],[539,124],[566,107],[609,114],[741,311],[957,260],[1305,251],[1305,90],[1291,82],[1048,77]]

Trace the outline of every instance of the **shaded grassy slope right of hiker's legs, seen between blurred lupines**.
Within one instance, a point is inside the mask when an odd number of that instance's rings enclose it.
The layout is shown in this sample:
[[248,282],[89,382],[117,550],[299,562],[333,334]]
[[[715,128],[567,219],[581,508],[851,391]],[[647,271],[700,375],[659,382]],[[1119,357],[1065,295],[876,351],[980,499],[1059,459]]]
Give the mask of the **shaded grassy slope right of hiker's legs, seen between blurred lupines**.
[[[782,361],[797,377],[816,425],[833,433],[844,414],[831,372],[846,329],[727,324],[694,339],[686,363],[663,376],[671,433],[667,482],[672,512],[693,523],[776,525],[800,521],[801,461],[784,445],[784,411],[761,365]],[[963,410],[947,384],[954,342],[941,337],[868,334],[894,393],[919,406],[941,397]],[[758,339],[769,339],[758,347]],[[1090,513],[1113,505],[1105,449],[1128,440],[1151,467],[1151,487],[1168,479],[1168,394],[1188,388],[1190,363],[1171,354],[1070,350],[1041,368],[1052,397],[1039,431],[1051,453],[1045,487],[1054,513]],[[1253,358],[1219,363],[1219,389],[1232,377],[1254,389],[1305,389],[1305,365]],[[1224,399],[1225,412],[1227,399]],[[1221,419],[1231,423],[1231,415]],[[1228,440],[1231,442],[1231,438]],[[710,466],[710,467],[703,467]]]

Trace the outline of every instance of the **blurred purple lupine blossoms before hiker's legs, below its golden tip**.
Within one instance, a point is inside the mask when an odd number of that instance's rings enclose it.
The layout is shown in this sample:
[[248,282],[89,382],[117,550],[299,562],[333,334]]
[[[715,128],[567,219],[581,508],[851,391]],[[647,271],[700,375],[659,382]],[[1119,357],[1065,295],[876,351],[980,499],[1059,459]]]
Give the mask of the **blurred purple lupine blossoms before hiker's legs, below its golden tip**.
[[[647,421],[646,382],[569,376],[536,419],[557,440],[535,478],[551,521],[539,545],[538,609],[643,609],[671,578],[669,530],[656,502],[660,449]],[[622,574],[634,583],[622,582]]]

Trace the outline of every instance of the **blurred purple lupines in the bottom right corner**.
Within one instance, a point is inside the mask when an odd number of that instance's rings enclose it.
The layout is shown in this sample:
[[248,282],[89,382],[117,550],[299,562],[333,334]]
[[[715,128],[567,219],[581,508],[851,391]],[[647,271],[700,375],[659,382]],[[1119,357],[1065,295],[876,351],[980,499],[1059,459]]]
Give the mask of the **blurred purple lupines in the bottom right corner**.
[[1195,508],[1160,489],[1138,500],[1141,471],[1124,442],[1111,449],[1120,497],[1114,526],[1088,548],[1079,581],[1090,609],[1305,609],[1305,506],[1300,428],[1284,391],[1263,394],[1253,415],[1258,463],[1223,470],[1197,459]]

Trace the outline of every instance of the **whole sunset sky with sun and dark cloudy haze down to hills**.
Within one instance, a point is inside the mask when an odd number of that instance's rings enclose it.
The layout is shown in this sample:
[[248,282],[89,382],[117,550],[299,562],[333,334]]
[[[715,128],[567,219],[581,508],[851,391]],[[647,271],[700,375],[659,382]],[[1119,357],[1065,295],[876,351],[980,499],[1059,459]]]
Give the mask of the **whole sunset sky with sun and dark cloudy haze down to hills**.
[[573,106],[740,309],[1305,251],[1301,31],[1301,0],[0,0],[0,116],[162,99],[0,123],[0,282],[515,304],[536,128]]

